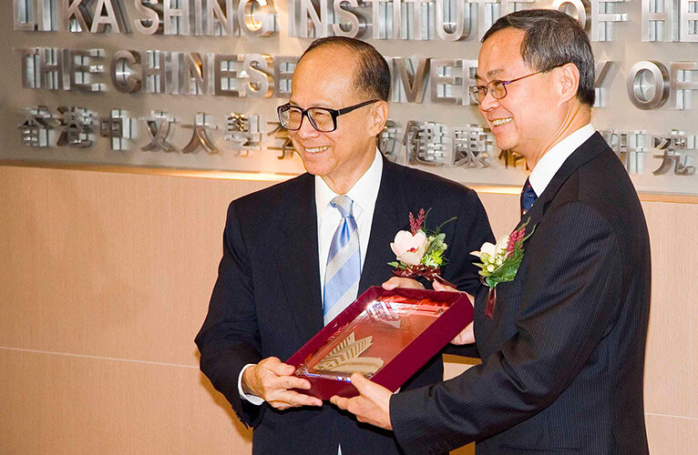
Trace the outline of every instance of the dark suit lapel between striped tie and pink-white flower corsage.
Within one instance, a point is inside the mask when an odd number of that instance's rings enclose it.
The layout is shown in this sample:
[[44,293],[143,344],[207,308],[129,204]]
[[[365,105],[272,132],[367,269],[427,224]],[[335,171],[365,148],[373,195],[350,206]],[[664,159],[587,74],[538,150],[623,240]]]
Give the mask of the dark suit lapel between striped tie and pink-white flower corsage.
[[390,243],[398,230],[409,228],[409,209],[399,177],[399,167],[384,158],[381,186],[375,199],[374,219],[371,222],[371,236],[359,281],[359,295],[371,286],[380,286],[391,277],[391,268],[387,263],[394,261],[395,255],[390,249]]

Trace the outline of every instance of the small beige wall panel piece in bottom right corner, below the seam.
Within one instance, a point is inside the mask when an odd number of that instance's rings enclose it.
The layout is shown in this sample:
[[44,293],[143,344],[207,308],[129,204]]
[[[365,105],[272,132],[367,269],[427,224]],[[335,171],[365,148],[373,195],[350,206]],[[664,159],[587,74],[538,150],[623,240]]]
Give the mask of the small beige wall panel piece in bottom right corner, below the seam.
[[698,448],[698,420],[645,416],[652,455],[688,455]]

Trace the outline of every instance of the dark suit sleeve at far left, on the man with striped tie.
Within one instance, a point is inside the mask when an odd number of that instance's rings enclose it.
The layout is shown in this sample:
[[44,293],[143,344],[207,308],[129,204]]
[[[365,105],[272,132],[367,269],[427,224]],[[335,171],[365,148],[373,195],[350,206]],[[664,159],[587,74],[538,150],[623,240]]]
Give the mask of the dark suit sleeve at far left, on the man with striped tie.
[[248,426],[253,425],[262,409],[240,398],[238,377],[242,367],[262,359],[261,341],[250,258],[234,201],[228,208],[223,258],[210,298],[209,313],[196,337],[196,344],[201,355],[201,371],[228,399],[240,420]]

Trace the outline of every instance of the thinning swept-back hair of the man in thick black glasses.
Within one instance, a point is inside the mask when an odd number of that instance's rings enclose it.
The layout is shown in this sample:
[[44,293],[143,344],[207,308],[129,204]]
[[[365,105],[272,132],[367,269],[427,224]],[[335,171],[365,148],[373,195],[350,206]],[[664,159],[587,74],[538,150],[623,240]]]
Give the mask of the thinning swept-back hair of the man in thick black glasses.
[[388,68],[385,58],[375,50],[373,45],[345,36],[328,36],[318,38],[305,49],[303,57],[313,49],[328,45],[341,45],[354,53],[358,62],[356,74],[354,75],[354,87],[368,96],[372,96],[383,101],[388,100],[390,93],[390,68]]

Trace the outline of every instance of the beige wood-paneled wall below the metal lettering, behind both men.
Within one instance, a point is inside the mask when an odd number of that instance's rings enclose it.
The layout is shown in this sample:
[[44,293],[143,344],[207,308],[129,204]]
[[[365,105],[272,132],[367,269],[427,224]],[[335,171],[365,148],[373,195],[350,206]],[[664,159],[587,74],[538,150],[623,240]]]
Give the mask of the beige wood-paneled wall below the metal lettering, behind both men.
[[[228,202],[268,185],[0,166],[0,453],[249,453],[251,431],[200,374],[193,338]],[[506,233],[518,198],[481,198]],[[654,274],[650,444],[690,453],[698,205],[643,207]]]

